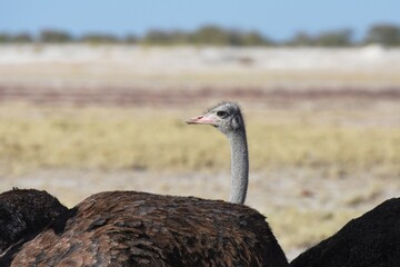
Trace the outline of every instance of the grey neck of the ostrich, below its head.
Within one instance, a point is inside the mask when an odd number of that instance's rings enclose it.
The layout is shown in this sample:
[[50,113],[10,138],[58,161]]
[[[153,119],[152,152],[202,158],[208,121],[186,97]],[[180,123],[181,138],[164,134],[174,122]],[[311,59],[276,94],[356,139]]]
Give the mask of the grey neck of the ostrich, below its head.
[[241,129],[228,136],[231,147],[231,191],[229,201],[243,204],[249,182],[249,152],[246,130]]

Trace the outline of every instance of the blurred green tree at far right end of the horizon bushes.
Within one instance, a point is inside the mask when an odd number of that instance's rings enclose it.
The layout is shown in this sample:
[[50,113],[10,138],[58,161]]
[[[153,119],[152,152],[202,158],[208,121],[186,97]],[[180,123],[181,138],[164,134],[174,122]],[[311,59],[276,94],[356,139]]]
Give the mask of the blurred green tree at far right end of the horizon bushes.
[[394,24],[372,26],[364,38],[364,43],[380,43],[383,46],[400,46],[400,27]]

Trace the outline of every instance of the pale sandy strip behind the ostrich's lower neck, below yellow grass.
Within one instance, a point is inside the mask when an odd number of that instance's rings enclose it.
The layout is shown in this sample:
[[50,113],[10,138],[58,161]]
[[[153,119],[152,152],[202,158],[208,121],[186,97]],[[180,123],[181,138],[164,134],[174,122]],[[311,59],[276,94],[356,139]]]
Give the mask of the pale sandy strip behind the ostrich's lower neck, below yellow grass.
[[[322,176],[322,174],[321,174]],[[324,179],[316,171],[300,169],[251,174],[247,204],[260,210],[296,207],[300,209],[368,208],[389,197],[398,196],[398,178],[373,175]],[[360,176],[360,175],[359,175]],[[18,179],[2,181],[11,187],[44,188],[64,204],[73,206],[91,194],[104,190],[139,190],[154,194],[198,196],[227,199],[230,177],[227,172],[150,172],[101,170],[41,170]],[[71,194],[72,192],[72,194]]]

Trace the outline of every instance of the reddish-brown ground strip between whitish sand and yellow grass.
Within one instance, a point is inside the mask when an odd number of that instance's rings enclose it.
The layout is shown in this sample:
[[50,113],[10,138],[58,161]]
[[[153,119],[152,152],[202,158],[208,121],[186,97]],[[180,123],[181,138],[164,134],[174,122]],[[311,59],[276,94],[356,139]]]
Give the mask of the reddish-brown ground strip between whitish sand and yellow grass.
[[371,90],[362,88],[339,89],[262,89],[262,88],[232,88],[213,89],[199,88],[192,90],[163,89],[151,90],[146,88],[86,88],[54,90],[53,88],[30,89],[24,87],[0,86],[0,101],[28,101],[33,103],[51,105],[106,105],[106,106],[146,106],[146,105],[178,105],[184,106],[202,102],[208,99],[236,99],[251,102],[290,103],[301,100],[391,100],[400,101],[400,88],[382,88]]

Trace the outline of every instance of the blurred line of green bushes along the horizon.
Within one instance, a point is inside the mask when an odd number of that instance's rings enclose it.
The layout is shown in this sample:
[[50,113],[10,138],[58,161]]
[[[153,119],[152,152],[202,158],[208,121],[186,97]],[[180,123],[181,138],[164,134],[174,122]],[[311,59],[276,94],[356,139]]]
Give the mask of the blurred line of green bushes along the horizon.
[[204,26],[194,31],[150,30],[144,36],[127,34],[119,37],[110,33],[86,33],[73,36],[63,30],[44,29],[39,34],[29,32],[0,32],[1,43],[136,43],[149,46],[293,46],[293,47],[352,47],[378,43],[388,47],[400,46],[400,26],[374,24],[361,40],[354,40],[350,29],[323,31],[318,34],[297,32],[289,40],[277,41],[257,31],[224,29],[217,26]]

